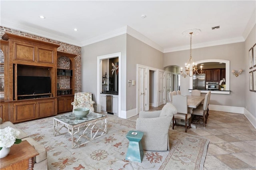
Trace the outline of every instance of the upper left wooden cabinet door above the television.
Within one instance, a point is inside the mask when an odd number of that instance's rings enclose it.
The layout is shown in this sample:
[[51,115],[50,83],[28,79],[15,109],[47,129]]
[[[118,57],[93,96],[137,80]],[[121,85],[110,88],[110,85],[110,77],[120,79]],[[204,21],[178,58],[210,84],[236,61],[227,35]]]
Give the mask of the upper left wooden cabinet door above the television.
[[35,46],[28,43],[14,42],[14,61],[35,61]]

